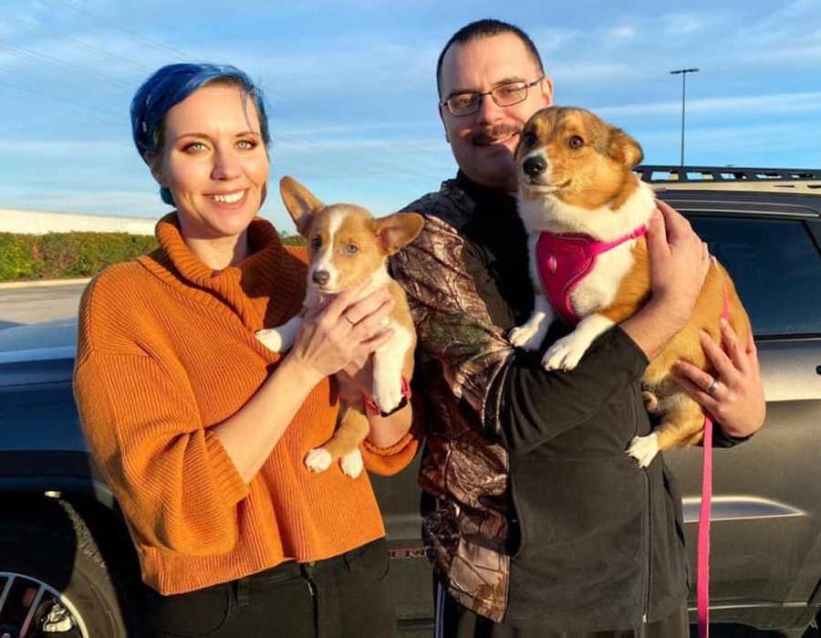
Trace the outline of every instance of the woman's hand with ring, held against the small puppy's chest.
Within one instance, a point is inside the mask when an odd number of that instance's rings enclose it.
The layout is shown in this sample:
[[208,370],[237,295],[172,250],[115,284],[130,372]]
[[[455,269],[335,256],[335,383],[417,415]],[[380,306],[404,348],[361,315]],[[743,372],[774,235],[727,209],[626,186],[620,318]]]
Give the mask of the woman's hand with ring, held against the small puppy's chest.
[[317,382],[352,361],[364,361],[392,336],[386,319],[395,302],[387,288],[354,301],[367,285],[344,290],[303,321],[288,358],[312,371]]

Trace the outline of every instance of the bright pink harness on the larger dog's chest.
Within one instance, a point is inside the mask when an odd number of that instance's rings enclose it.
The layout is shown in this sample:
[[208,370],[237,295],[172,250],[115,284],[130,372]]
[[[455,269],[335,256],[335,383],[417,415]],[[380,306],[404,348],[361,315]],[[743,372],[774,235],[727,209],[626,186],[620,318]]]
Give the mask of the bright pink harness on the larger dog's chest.
[[629,235],[611,242],[601,242],[589,235],[542,233],[536,240],[535,259],[550,305],[566,323],[575,326],[581,319],[573,309],[570,295],[579,282],[596,265],[596,258],[611,248],[637,239],[647,232],[646,226],[639,226]]

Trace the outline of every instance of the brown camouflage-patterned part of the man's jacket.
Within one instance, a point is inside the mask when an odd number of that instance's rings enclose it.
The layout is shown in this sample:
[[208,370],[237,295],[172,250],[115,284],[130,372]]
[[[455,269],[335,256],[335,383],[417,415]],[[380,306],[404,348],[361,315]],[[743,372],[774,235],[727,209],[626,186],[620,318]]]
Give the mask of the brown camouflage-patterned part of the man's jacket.
[[408,206],[426,224],[390,268],[408,293],[419,336],[416,391],[425,413],[436,415],[425,419],[422,538],[453,598],[498,622],[510,575],[508,454],[483,433],[497,418],[493,389],[513,350],[462,261],[459,231],[476,205],[449,180]]

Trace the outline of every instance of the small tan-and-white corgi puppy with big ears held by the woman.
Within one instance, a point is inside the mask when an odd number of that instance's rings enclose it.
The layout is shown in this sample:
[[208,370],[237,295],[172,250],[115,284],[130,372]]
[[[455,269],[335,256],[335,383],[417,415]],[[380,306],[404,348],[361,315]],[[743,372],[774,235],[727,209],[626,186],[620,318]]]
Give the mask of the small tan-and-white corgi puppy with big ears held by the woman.
[[[359,206],[326,206],[292,177],[282,178],[279,191],[296,229],[307,239],[307,292],[300,315],[283,326],[259,330],[257,339],[270,350],[288,350],[296,340],[301,316],[329,296],[338,295],[368,277],[370,284],[359,298],[387,285],[396,301],[387,321],[394,334],[373,353],[372,399],[366,398],[365,403],[383,413],[391,412],[400,405],[403,396],[408,395],[416,331],[405,291],[390,278],[387,260],[420,234],[424,218],[416,213],[397,213],[374,219]],[[359,444],[368,432],[365,413],[348,408],[341,415],[334,435],[307,453],[305,465],[313,472],[323,472],[339,459],[345,474],[359,476],[363,466]]]

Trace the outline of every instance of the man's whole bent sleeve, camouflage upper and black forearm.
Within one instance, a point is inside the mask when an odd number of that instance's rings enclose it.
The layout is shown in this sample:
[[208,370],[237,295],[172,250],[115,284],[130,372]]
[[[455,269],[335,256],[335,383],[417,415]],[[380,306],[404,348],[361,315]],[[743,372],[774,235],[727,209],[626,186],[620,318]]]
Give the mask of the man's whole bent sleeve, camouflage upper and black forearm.
[[431,362],[417,375],[436,376],[426,386],[449,394],[447,403],[458,403],[490,440],[526,452],[584,423],[641,378],[647,358],[618,326],[601,335],[571,372],[546,371],[538,353],[514,349],[488,313],[494,300],[476,289],[483,268],[461,235],[431,218],[390,264],[407,293],[417,361]]

